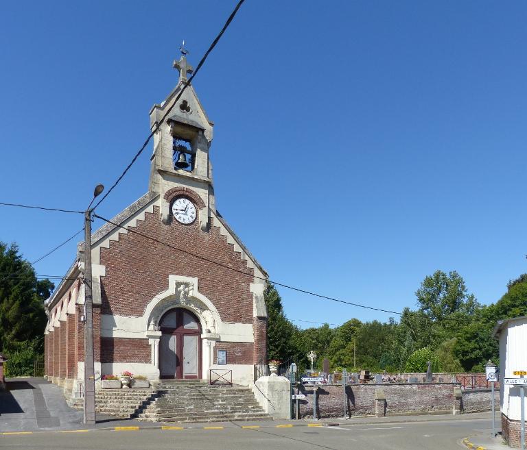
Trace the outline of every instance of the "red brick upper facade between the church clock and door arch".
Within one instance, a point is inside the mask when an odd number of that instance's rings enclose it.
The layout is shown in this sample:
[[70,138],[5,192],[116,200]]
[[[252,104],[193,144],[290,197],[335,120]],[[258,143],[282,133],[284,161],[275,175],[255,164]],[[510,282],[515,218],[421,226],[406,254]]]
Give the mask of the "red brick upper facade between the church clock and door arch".
[[154,208],[153,213],[145,214],[145,221],[138,221],[136,230],[248,275],[156,244],[138,234],[121,234],[118,242],[110,241],[110,248],[102,248],[100,253],[100,264],[106,266],[106,276],[102,277],[102,314],[142,316],[152,297],[167,289],[168,275],[177,274],[198,277],[199,291],[218,308],[222,321],[253,323],[253,295],[249,291],[253,269],[220,235],[218,227],[203,232],[198,220],[191,225],[176,221],[165,225],[159,218],[159,208]]

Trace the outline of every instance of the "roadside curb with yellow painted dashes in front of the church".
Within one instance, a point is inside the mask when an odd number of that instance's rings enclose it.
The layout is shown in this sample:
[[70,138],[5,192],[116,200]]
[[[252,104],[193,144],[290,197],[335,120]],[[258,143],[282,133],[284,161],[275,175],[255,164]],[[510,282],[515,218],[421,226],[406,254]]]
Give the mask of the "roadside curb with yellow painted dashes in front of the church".
[[[200,427],[178,427],[172,425],[151,425],[151,426],[130,426],[130,427],[106,427],[106,428],[84,428],[84,429],[57,429],[36,432],[0,432],[0,436],[18,435],[18,434],[43,434],[43,433],[87,433],[87,432],[139,432],[142,429],[161,429],[161,430],[185,430],[185,429],[203,429],[203,430],[220,430],[220,429],[258,429],[258,428],[293,428],[293,427],[338,427],[338,424],[331,425],[323,423],[285,423],[281,425],[203,425]],[[482,447],[481,447],[482,448]],[[478,449],[479,450],[479,449]]]

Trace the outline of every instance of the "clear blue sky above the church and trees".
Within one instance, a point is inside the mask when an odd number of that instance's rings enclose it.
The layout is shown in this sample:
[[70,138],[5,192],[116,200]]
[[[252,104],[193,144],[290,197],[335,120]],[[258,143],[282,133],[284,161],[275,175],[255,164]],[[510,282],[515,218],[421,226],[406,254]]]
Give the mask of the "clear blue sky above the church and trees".
[[[234,5],[4,3],[0,201],[86,208],[148,135],[181,40],[196,65]],[[194,86],[215,122],[218,210],[272,279],[402,310],[436,269],[482,303],[527,271],[526,18],[523,1],[242,5]],[[143,195],[150,153],[99,214]],[[30,260],[81,228],[0,207],[0,240]],[[37,273],[62,275],[74,252]],[[389,316],[279,290],[292,319]]]

